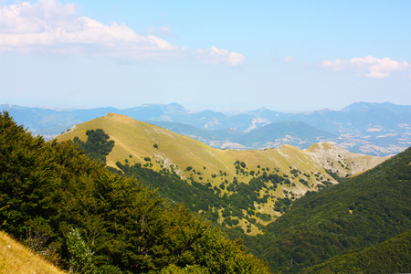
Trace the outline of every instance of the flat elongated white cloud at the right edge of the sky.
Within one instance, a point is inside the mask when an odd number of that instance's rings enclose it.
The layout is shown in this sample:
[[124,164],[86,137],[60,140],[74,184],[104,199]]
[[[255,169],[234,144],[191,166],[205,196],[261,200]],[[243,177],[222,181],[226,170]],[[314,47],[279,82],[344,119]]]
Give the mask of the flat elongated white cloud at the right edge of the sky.
[[391,72],[411,68],[411,65],[406,61],[398,62],[390,58],[367,56],[364,58],[352,58],[349,61],[342,59],[335,59],[333,61],[323,60],[321,67],[332,68],[335,71],[353,68],[366,77],[381,79],[388,78]]

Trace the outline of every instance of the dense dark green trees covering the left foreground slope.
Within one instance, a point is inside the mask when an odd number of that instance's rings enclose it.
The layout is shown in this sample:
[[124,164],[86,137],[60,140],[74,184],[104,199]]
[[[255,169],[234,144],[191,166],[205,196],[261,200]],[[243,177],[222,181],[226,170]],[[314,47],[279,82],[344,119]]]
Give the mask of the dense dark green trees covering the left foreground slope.
[[[0,229],[80,273],[178,273],[187,266],[269,273],[183,205],[112,174],[72,142],[31,136],[7,112],[0,114]],[[79,256],[84,250],[87,258]]]

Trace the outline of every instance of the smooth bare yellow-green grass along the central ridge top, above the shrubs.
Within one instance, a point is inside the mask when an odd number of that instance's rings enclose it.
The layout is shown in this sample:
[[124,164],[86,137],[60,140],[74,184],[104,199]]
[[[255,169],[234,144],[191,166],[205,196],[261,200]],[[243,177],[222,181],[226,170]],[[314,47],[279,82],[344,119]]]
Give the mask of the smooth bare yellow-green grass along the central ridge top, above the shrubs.
[[[300,168],[302,173],[321,172],[326,178],[332,179],[324,173],[321,163],[312,161],[311,153],[306,153],[290,145],[264,151],[217,150],[184,135],[112,113],[107,114],[105,117],[81,123],[73,131],[58,136],[58,140],[72,140],[75,136],[79,136],[82,141],[86,141],[86,132],[97,128],[101,128],[109,134],[111,140],[116,144],[107,157],[108,165],[113,167],[117,161],[122,163],[130,155],[132,155],[131,163],[143,164],[145,163],[144,157],[151,157],[153,160],[161,162],[160,164],[155,161],[152,162],[154,170],[162,169],[161,165],[168,167],[170,164],[174,164],[174,170],[180,172],[186,178],[191,175],[190,172],[185,171],[187,166],[192,166],[197,171],[201,171],[205,167],[204,172],[202,171],[204,173],[202,176],[203,181],[210,180],[215,185],[214,181],[211,180],[211,174],[218,174],[220,170],[227,172],[229,181],[232,181],[234,176],[237,176],[238,179],[245,177],[236,174],[233,165],[235,161],[240,160],[247,163],[248,170],[257,170],[257,166],[260,165],[269,168],[279,167],[284,173],[289,173],[290,166],[293,166]],[[158,145],[157,149],[153,147],[154,144]],[[362,164],[365,169],[383,161],[378,157],[356,155],[357,158],[364,159]],[[379,161],[367,164],[367,161],[372,162],[373,159],[379,159]],[[337,164],[335,168],[338,168]],[[198,180],[198,177],[198,174],[194,174],[195,180],[201,181]]]

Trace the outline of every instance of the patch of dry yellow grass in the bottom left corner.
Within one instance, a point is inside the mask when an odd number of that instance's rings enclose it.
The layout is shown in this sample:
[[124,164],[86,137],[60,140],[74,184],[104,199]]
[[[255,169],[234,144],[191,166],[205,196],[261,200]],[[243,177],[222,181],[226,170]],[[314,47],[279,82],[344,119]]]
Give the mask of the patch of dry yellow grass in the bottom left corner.
[[28,248],[0,231],[0,273],[67,273],[36,256]]

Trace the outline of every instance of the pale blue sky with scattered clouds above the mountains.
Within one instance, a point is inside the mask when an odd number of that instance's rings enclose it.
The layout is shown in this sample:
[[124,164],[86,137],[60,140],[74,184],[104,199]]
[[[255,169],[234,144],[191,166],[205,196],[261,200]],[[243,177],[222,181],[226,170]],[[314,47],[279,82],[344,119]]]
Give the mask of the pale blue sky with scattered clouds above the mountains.
[[411,105],[411,1],[0,0],[0,104]]

